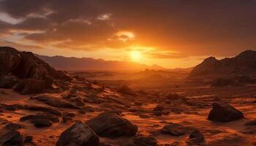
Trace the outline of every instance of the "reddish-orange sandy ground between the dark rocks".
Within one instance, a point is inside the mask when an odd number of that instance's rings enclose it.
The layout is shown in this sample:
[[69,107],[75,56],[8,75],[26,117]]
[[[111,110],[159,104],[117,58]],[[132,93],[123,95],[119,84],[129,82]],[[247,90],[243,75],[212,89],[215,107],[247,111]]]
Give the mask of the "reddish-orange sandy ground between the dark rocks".
[[[154,90],[154,92],[159,93],[159,95],[139,95],[138,97],[125,96],[120,93],[116,93],[111,90],[105,90],[101,93],[97,93],[98,98],[106,98],[112,96],[120,101],[124,101],[131,104],[131,108],[137,108],[140,110],[145,110],[143,115],[148,115],[148,118],[140,118],[140,113],[129,112],[126,108],[122,108],[120,105],[111,103],[106,104],[92,104],[86,103],[86,106],[94,108],[94,112],[86,112],[86,114],[80,114],[78,110],[64,109],[51,107],[53,109],[59,110],[61,112],[73,112],[75,113],[76,120],[86,121],[94,116],[98,115],[100,112],[108,110],[108,105],[116,107],[116,110],[121,110],[121,115],[127,118],[132,123],[138,126],[137,135],[153,135],[159,145],[187,145],[186,141],[189,137],[188,134],[180,137],[174,137],[167,134],[159,133],[165,124],[180,123],[183,126],[190,126],[199,129],[204,137],[205,142],[201,145],[256,145],[256,126],[244,126],[244,123],[249,120],[256,119],[256,98],[255,98],[256,85],[243,86],[236,88],[210,88],[210,87],[197,87],[197,88],[161,88],[159,90]],[[4,92],[4,93],[3,93]],[[78,94],[84,96],[88,92],[80,91]],[[150,93],[150,91],[148,91]],[[167,93],[179,93],[181,96],[186,96],[189,101],[195,103],[194,105],[176,104],[181,112],[170,112],[169,115],[156,116],[152,115],[152,110],[157,104],[164,104],[167,110],[173,108],[172,105],[168,105],[159,101],[162,96]],[[60,94],[56,94],[56,98],[61,98]],[[232,121],[229,123],[213,123],[207,120],[208,112],[211,110],[211,103],[213,99],[218,96],[236,107],[244,113],[244,117],[241,120]],[[133,102],[141,101],[142,106],[135,106]],[[23,96],[12,90],[1,89],[0,93],[0,103],[1,104],[33,104],[41,107],[50,107],[47,104],[43,104],[40,101],[35,101],[30,99],[30,96]],[[73,122],[62,123],[61,117],[59,117],[59,123],[53,123],[53,126],[48,128],[36,128],[31,123],[25,121],[21,122],[19,119],[24,115],[36,114],[38,111],[29,110],[15,110],[0,113],[0,128],[3,128],[7,123],[20,123],[25,126],[25,128],[20,129],[20,133],[24,136],[33,136],[33,142],[35,145],[55,145],[56,141],[59,139],[59,135],[62,131],[72,125]],[[133,137],[119,137],[116,139],[108,139],[100,137],[101,142],[108,145],[120,145],[127,142],[132,142]],[[223,140],[224,139],[224,140]],[[29,144],[31,145],[31,144]]]

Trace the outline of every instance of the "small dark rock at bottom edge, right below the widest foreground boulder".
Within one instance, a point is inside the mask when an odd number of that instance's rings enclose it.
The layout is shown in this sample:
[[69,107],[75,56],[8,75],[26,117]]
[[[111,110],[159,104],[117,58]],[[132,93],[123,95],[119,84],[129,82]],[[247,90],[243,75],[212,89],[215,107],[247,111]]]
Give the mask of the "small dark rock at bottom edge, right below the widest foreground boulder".
[[154,137],[135,137],[133,143],[136,146],[157,146],[157,139]]

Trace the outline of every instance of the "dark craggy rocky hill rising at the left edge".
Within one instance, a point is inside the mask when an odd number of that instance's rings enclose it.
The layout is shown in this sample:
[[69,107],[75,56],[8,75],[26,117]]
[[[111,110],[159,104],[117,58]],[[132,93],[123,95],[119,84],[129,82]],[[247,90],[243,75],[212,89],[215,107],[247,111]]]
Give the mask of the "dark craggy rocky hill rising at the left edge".
[[0,47],[0,88],[14,88],[20,93],[39,93],[56,80],[69,80],[33,53]]

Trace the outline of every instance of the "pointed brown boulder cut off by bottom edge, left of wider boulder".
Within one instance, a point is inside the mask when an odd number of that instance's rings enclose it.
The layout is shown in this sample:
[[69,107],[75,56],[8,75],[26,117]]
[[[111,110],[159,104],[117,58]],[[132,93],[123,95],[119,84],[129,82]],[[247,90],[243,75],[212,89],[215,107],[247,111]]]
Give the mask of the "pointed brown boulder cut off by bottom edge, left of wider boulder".
[[77,122],[62,132],[56,146],[96,146],[99,137],[86,124]]

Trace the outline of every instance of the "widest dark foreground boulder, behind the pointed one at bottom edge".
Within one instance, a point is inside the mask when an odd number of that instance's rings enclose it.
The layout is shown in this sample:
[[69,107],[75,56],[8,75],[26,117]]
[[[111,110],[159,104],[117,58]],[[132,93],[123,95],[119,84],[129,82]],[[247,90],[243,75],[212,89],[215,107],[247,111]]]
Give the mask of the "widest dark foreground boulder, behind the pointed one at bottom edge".
[[102,137],[133,136],[138,131],[137,126],[115,112],[99,114],[97,117],[86,121],[86,124]]

